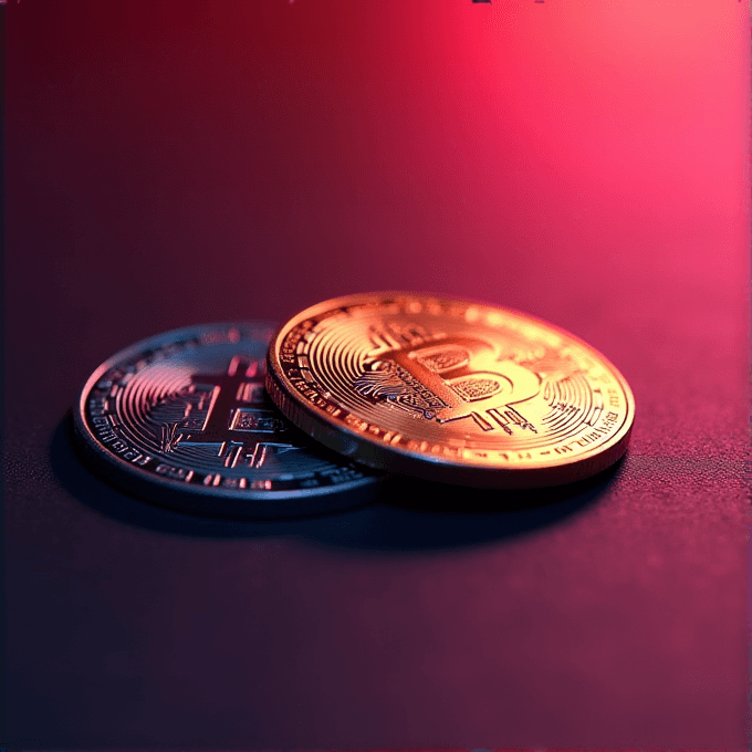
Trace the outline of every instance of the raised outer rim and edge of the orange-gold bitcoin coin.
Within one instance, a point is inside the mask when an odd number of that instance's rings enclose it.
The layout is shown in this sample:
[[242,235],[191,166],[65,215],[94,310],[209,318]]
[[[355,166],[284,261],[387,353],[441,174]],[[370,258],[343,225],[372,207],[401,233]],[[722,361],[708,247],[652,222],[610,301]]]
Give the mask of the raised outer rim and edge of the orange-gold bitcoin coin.
[[[304,400],[286,378],[279,356],[284,336],[302,321],[315,317],[315,315],[333,307],[346,307],[355,303],[368,304],[369,302],[383,304],[385,300],[396,301],[400,297],[418,299],[421,302],[434,300],[442,305],[477,305],[487,310],[511,313],[523,320],[537,323],[547,330],[553,330],[579,344],[587,352],[594,353],[597,359],[610,369],[626,398],[625,420],[612,437],[612,443],[596,453],[562,458],[555,464],[503,468],[473,464],[466,461],[456,462],[451,459],[437,458],[403,447],[394,447],[373,439],[368,435],[359,434],[345,425],[332,421],[328,414]],[[610,467],[625,453],[634,426],[635,397],[631,388],[622,372],[593,345],[561,326],[523,311],[466,297],[448,297],[435,293],[405,291],[369,292],[332,297],[309,306],[282,324],[271,338],[267,359],[267,391],[269,396],[283,415],[309,436],[345,457],[357,457],[359,463],[370,468],[417,476],[427,480],[498,489],[543,488],[583,480]]]

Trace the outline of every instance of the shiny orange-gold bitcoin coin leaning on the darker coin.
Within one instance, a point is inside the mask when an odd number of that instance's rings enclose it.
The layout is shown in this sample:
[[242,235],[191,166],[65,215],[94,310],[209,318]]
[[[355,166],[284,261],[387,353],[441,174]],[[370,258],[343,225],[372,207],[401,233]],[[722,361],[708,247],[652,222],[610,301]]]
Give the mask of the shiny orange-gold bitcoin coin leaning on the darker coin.
[[555,485],[626,451],[629,386],[596,349],[528,314],[387,292],[284,324],[267,388],[295,425],[373,468],[480,488]]

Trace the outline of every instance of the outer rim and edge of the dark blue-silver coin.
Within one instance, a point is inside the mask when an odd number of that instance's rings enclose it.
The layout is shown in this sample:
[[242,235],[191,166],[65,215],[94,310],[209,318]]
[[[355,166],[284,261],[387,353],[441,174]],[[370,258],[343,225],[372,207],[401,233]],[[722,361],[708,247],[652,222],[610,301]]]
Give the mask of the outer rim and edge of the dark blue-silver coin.
[[[294,514],[302,516],[309,513],[309,511],[310,513],[336,511],[373,501],[376,498],[377,487],[382,480],[378,474],[366,476],[338,485],[322,485],[296,490],[240,490],[223,489],[221,487],[206,488],[197,484],[187,485],[181,481],[157,476],[150,471],[137,470],[130,462],[109,451],[96,439],[86,419],[86,400],[94,385],[109,368],[123,359],[137,355],[145,348],[166,345],[177,337],[187,338],[201,332],[221,331],[222,328],[231,327],[268,328],[274,332],[278,325],[260,320],[182,326],[139,340],[135,344],[118,351],[97,366],[86,379],[76,400],[75,409],[72,410],[74,437],[77,439],[75,443],[83,456],[82,459],[88,460],[95,466],[100,476],[103,476],[107,481],[113,481],[113,484],[117,488],[126,489],[157,503],[165,503],[169,506],[177,506],[189,511],[209,511],[217,515],[273,518]],[[367,472],[373,471],[370,468],[364,468],[364,470]],[[362,501],[361,498],[363,498]],[[209,501],[221,503],[221,509],[210,508]],[[321,501],[321,503],[316,505],[316,501]],[[325,501],[331,503],[324,503]],[[244,505],[251,502],[255,504],[257,509],[246,509]],[[270,509],[259,508],[261,502],[269,502]],[[289,503],[285,504],[285,502]],[[310,509],[305,511],[295,510],[293,509],[294,502],[305,502]]]

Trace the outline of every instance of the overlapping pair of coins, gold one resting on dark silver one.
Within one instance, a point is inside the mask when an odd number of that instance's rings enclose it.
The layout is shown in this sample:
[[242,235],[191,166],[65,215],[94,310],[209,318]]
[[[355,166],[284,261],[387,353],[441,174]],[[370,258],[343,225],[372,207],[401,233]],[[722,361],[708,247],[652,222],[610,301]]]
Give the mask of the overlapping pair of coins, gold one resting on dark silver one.
[[558,327],[393,292],[326,301],[280,328],[139,342],[94,372],[74,425],[125,490],[279,518],[373,501],[385,473],[493,489],[581,480],[626,451],[634,411],[619,372]]

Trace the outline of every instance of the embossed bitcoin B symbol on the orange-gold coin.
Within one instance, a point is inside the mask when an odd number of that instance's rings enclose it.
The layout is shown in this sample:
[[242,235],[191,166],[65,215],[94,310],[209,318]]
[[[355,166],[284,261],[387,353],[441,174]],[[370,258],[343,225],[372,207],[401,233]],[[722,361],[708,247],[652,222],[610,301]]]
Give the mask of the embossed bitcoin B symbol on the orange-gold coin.
[[[356,390],[440,424],[472,418],[484,431],[537,432],[512,405],[539,394],[541,378],[513,361],[499,361],[484,340],[446,336],[372,353]],[[491,422],[491,420],[493,422]]]

